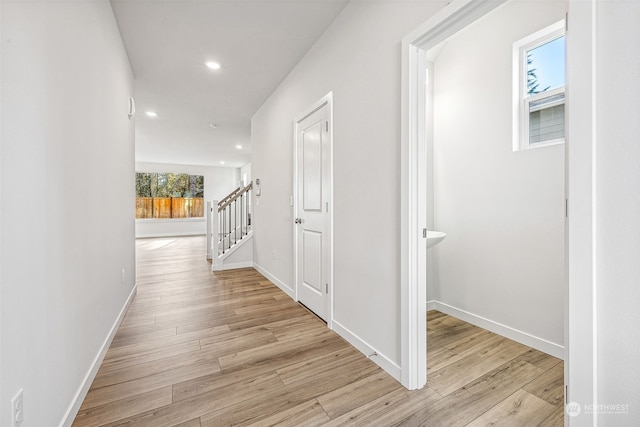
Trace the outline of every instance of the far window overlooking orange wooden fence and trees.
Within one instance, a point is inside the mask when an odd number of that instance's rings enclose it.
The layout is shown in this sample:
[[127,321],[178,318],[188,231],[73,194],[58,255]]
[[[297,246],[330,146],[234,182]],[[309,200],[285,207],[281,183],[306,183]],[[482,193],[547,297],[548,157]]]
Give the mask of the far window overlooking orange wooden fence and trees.
[[136,172],[136,219],[204,217],[204,176]]

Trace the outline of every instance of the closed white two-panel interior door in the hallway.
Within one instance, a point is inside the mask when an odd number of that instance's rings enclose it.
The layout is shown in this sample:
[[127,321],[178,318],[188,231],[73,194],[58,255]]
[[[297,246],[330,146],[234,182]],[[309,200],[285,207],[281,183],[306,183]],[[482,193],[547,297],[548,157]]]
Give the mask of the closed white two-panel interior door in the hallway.
[[298,301],[330,319],[331,105],[323,100],[296,122],[295,247]]

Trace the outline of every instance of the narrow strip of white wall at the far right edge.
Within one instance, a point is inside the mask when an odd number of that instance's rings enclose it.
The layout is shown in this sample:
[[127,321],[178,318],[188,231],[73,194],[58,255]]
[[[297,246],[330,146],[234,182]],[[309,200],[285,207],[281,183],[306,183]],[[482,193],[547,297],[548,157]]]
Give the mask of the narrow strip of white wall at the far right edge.
[[598,425],[640,425],[640,4],[597,3],[597,403],[628,405]]

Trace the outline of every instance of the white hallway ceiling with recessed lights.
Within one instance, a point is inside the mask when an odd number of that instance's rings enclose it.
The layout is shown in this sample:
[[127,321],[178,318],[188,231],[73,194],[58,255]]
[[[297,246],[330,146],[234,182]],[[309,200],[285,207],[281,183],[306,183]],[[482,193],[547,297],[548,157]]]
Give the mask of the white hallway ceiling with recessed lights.
[[347,2],[111,0],[136,79],[136,161],[248,163],[251,117]]

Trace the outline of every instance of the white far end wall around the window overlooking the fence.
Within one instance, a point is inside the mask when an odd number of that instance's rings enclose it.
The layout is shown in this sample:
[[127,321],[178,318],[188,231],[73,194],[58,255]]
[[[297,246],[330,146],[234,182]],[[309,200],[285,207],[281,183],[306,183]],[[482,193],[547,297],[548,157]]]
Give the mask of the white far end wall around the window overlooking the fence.
[[[240,185],[240,169],[238,168],[136,162],[136,172],[202,175],[204,176],[205,202],[220,200]],[[189,236],[206,233],[206,218],[136,220],[136,237]]]

